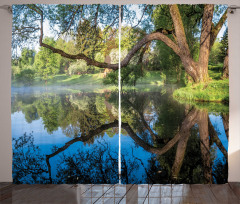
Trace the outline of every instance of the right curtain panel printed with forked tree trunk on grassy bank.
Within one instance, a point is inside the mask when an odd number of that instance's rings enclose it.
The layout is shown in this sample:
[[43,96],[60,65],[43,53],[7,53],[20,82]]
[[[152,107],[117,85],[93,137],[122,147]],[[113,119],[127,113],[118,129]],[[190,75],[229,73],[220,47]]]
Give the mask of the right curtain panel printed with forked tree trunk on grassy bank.
[[227,6],[138,4],[120,13],[121,182],[226,183]]

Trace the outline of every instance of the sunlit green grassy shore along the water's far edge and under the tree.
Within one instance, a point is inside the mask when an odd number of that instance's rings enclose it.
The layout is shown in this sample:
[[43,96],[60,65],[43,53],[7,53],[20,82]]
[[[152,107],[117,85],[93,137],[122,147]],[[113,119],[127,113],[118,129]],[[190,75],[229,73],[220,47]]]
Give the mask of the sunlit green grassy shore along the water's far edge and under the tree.
[[[192,86],[185,86],[176,89],[173,97],[178,101],[198,101],[198,102],[224,102],[229,101],[229,80],[221,80],[221,72],[219,68],[209,70],[211,80],[208,84],[197,84]],[[180,87],[184,86],[184,72],[180,80],[177,80],[176,74],[162,73],[160,71],[149,71],[144,77],[137,81],[137,87],[151,85],[163,86],[164,84],[178,84]],[[12,81],[13,87],[23,87],[22,83],[15,80]],[[31,87],[46,86],[45,82],[36,77]],[[86,74],[86,75],[66,75],[58,74],[47,82],[48,87],[52,86],[94,86],[96,89],[116,89],[117,85],[104,85],[103,73]],[[133,86],[123,86],[124,90],[136,89]],[[149,87],[145,87],[149,88]],[[92,88],[91,88],[92,89]]]

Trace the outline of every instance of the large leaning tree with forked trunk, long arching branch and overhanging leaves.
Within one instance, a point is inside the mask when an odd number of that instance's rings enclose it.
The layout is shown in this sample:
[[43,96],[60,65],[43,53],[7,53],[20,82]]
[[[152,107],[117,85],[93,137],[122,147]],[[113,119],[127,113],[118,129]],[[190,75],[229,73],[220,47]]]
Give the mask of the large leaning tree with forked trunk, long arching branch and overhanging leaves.
[[[133,16],[131,11],[122,7],[121,18],[131,18]],[[154,9],[153,6],[143,5],[142,12],[149,15],[148,9]],[[145,32],[142,38],[132,47],[126,57],[121,61],[121,67],[126,67],[135,54],[139,52],[144,53],[144,47],[149,46],[152,41],[160,40],[170,47],[181,59],[185,71],[192,77],[195,83],[206,82],[208,77],[208,61],[211,47],[213,46],[219,31],[227,19],[227,9],[223,12],[220,20],[214,22],[214,5],[204,5],[201,15],[201,33],[199,58],[194,60],[191,52],[188,39],[186,37],[185,25],[182,19],[182,14],[179,6],[169,5],[167,9],[170,12],[173,22],[173,28],[166,30],[165,28],[158,28],[153,32]],[[78,54],[67,53],[62,49],[57,49],[49,44],[43,42],[44,37],[44,22],[48,20],[50,27],[63,35],[65,33],[79,33],[79,26],[84,24],[88,27],[82,27],[85,31],[84,35],[80,36],[84,41],[84,48],[90,49],[90,46],[96,47],[96,50],[101,49],[108,39],[103,37],[103,33],[114,30],[117,32],[119,11],[116,5],[20,5],[14,9],[14,26],[13,26],[13,44],[19,42],[20,39],[39,39],[39,44],[42,47],[50,49],[53,53],[58,53],[63,57],[69,59],[85,60],[87,65],[93,65],[99,68],[109,68],[112,70],[118,69],[118,64],[111,64],[106,62],[99,62],[94,58],[94,54],[87,55],[84,51]],[[139,22],[142,18],[139,20]],[[138,22],[138,23],[139,23]],[[84,25],[85,25],[84,24]],[[103,30],[101,33],[100,30]],[[92,37],[86,37],[86,32],[92,33]],[[109,35],[108,35],[109,36]],[[85,39],[83,39],[85,37]],[[78,36],[79,38],[79,36]],[[94,38],[94,40],[92,39]],[[91,42],[91,45],[88,45]],[[81,49],[82,50],[82,49]],[[141,54],[140,54],[141,58]]]

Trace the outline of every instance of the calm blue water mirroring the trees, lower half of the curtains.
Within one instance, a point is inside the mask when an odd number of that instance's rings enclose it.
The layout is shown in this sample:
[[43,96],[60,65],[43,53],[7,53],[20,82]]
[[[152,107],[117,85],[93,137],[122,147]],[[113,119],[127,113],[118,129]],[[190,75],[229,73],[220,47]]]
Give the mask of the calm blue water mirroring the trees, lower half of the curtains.
[[[228,106],[122,94],[122,183],[227,182]],[[119,183],[118,93],[12,88],[15,183]]]

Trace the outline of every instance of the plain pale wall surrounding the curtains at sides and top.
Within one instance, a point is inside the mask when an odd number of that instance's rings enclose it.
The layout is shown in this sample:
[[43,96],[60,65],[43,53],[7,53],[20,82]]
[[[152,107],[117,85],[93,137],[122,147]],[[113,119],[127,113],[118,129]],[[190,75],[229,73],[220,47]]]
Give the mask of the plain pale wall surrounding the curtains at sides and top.
[[[239,0],[1,0],[0,6],[27,3],[113,3],[113,4],[197,4],[240,6]],[[0,182],[12,181],[11,144],[11,22],[12,16],[0,10]],[[230,60],[229,181],[240,182],[240,9],[228,15]]]

